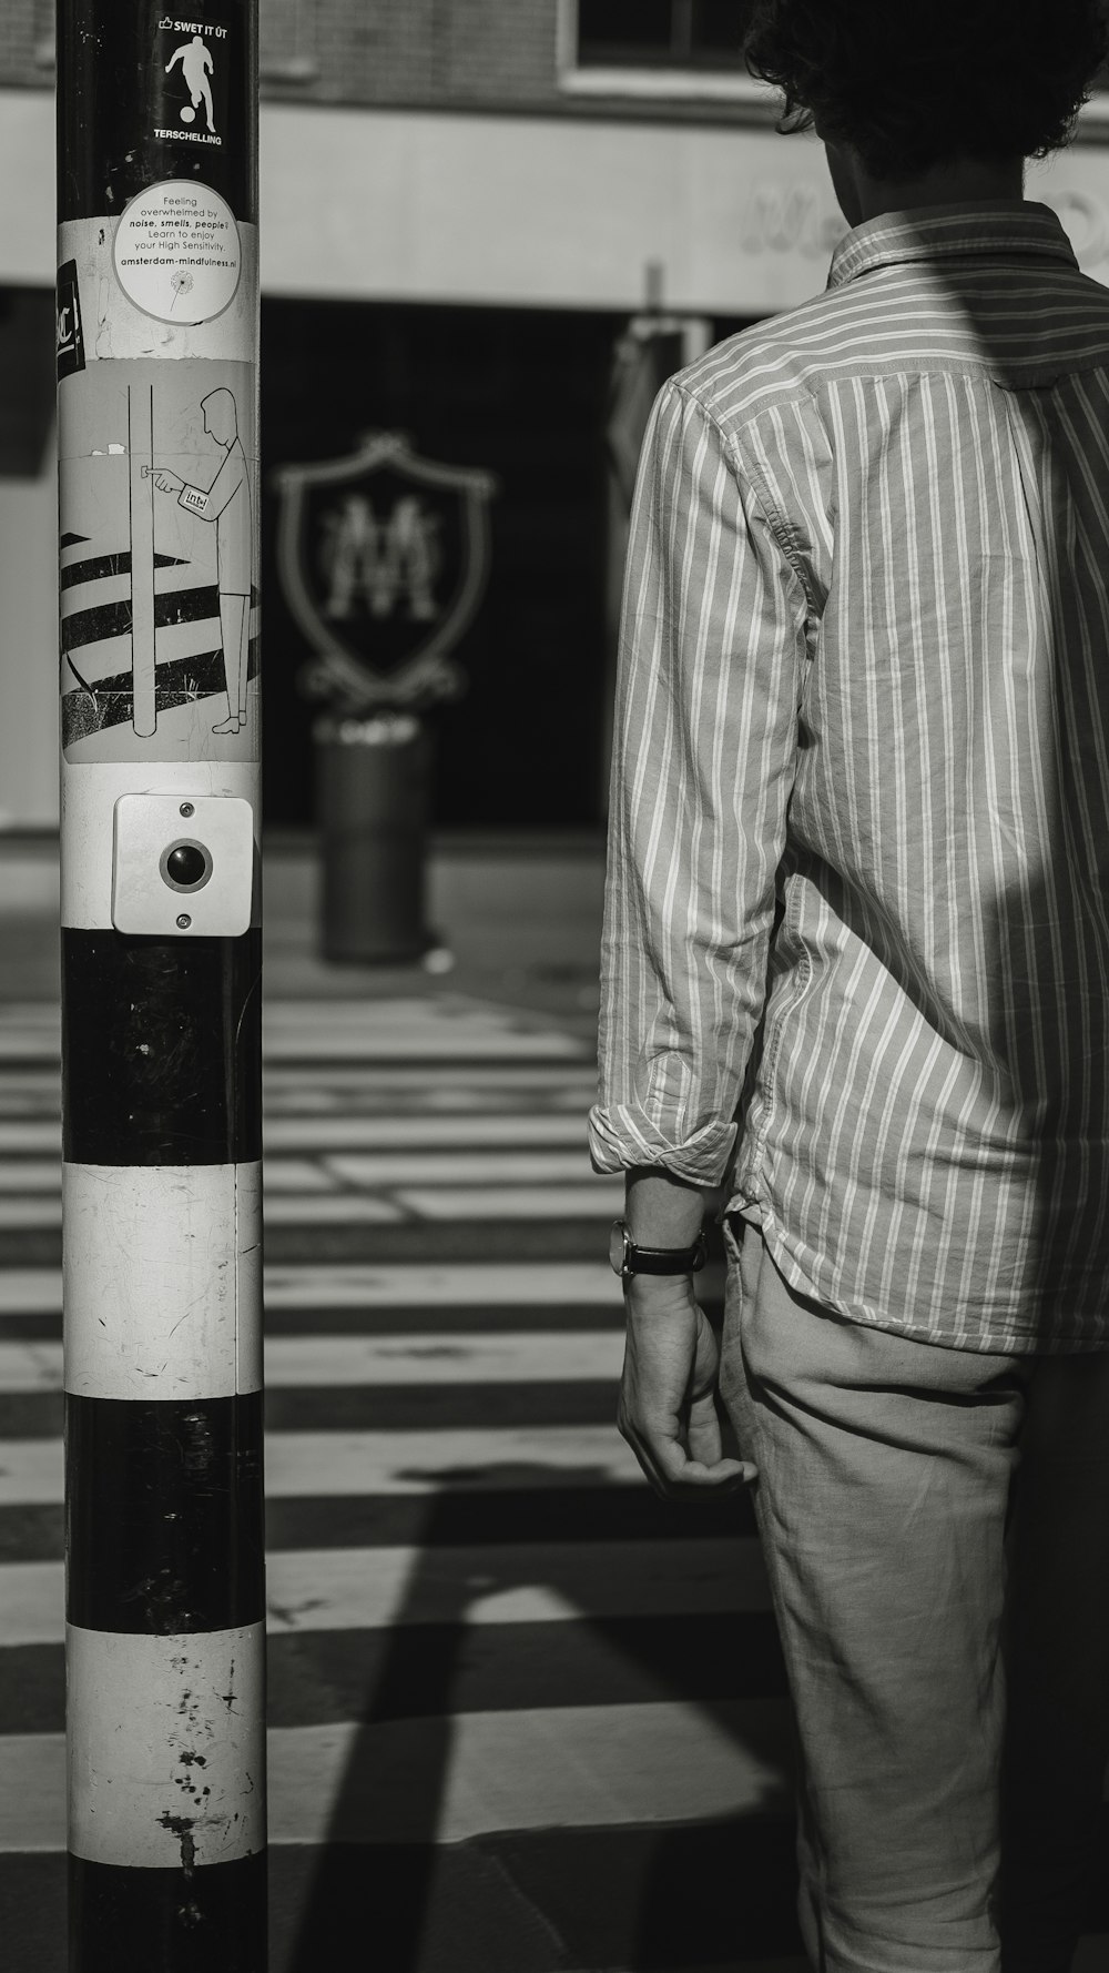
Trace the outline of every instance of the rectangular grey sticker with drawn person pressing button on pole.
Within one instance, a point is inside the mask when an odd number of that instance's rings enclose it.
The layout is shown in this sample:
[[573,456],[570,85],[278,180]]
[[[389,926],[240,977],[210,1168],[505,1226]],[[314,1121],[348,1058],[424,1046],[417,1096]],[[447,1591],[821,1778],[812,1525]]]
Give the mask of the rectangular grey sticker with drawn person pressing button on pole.
[[245,363],[91,363],[59,460],[65,760],[259,760]]

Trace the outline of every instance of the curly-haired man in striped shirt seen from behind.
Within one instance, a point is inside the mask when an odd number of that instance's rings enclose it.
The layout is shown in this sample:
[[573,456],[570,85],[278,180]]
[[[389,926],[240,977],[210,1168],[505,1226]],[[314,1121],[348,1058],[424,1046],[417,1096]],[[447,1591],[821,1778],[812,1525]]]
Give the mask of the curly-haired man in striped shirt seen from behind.
[[1109,292],[1022,166],[1105,53],[1095,0],[766,0],[850,231],[663,389],[631,521],[620,1425],[667,1496],[754,1488],[827,1973],[1066,1973],[1095,1855]]

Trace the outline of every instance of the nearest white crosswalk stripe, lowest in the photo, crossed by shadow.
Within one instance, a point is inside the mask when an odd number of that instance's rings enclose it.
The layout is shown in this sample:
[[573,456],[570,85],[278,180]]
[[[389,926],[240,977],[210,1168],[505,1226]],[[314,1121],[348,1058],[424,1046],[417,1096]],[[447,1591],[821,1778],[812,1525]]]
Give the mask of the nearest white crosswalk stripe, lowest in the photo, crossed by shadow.
[[[434,1841],[493,1829],[604,1829],[629,1821],[742,1815],[787,1799],[789,1730],[781,1703],[760,1703],[744,1744],[742,1701],[722,1734],[699,1707],[556,1707],[454,1713],[270,1728],[270,1843],[420,1843],[428,1837],[424,1776],[442,1768]],[[450,1750],[440,1746],[450,1732]],[[760,1752],[754,1752],[758,1748]],[[444,1758],[446,1756],[446,1758]],[[0,1851],[65,1845],[65,1740],[8,1734]],[[357,1782],[351,1788],[351,1768]],[[651,1805],[649,1817],[643,1815]]]

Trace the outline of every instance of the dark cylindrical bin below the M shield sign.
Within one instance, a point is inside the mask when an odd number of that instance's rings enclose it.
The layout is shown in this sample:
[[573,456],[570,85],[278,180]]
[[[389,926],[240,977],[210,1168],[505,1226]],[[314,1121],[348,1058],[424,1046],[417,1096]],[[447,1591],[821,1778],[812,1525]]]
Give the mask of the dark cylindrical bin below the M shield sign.
[[326,714],[314,740],[324,959],[422,959],[430,734],[408,712]]

